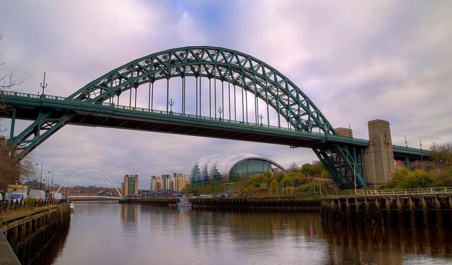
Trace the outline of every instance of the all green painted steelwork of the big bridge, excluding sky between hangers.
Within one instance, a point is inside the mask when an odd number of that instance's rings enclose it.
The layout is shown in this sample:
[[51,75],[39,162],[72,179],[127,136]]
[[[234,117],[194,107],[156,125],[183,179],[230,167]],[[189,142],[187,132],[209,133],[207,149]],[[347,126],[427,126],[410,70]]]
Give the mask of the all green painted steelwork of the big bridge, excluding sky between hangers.
[[[258,108],[257,98],[267,103],[267,108],[268,106],[274,108],[278,113],[278,126],[258,124],[257,111],[255,123],[248,123],[248,111],[246,113],[247,122],[226,120],[224,117],[221,118],[221,115],[219,119],[203,117],[200,113],[200,93],[199,115],[185,113],[185,99],[182,102],[182,113],[173,113],[173,111],[168,113],[168,109],[166,111],[153,110],[151,107],[153,105],[153,98],[151,98],[151,91],[153,97],[153,83],[156,80],[166,79],[166,96],[168,99],[169,80],[171,78],[182,78],[182,98],[185,98],[185,77],[218,79],[222,84],[227,81],[234,87],[239,86],[245,91],[249,91],[256,97],[255,110]],[[149,108],[132,107],[132,89],[135,89],[136,105],[137,88],[141,84],[147,83],[149,83],[150,91]],[[214,84],[216,85],[216,82]],[[201,89],[200,79],[199,89]],[[128,107],[117,106],[112,103],[115,96],[119,98],[120,94],[125,91],[130,91]],[[223,98],[221,106],[224,111],[223,85],[221,86],[221,96]],[[318,140],[323,144],[315,146],[301,144],[294,147],[311,147],[330,171],[335,182],[342,188],[351,186],[354,176],[356,176],[359,186],[366,186],[362,149],[369,143],[365,140],[337,135],[323,113],[298,86],[265,62],[235,50],[199,46],[157,52],[104,74],[67,98],[15,92],[6,93],[5,91],[2,92],[2,97],[12,108],[16,105],[28,105],[39,111],[39,115],[28,128],[8,140],[8,144],[16,148],[17,151],[13,159],[23,158],[59,128],[67,123],[73,123],[76,113],[86,111],[89,113],[110,113],[122,118],[161,120],[162,122],[180,125],[204,126],[221,130],[233,129],[243,133],[257,132],[263,135],[274,135],[274,137],[289,137],[288,135],[291,135],[291,137],[299,137],[300,139]],[[168,100],[166,107],[168,108]],[[234,99],[234,113],[236,113],[235,108]],[[196,106],[196,110],[198,111],[198,106]],[[229,111],[231,111],[231,108],[229,108]],[[16,115],[16,112],[14,112],[14,115]],[[290,126],[289,128],[281,127],[279,115],[294,129],[291,130]],[[231,117],[231,114],[229,116]],[[403,150],[399,151],[403,153]],[[410,150],[410,152],[416,151]]]

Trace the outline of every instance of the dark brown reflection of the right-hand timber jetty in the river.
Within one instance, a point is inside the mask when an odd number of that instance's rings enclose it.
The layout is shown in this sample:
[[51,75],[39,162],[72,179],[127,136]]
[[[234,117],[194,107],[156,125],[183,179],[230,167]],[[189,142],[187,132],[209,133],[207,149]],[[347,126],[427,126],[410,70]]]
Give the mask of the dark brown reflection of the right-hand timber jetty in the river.
[[[364,227],[323,224],[331,260],[400,264],[407,254],[426,254],[439,260],[451,258],[451,230],[436,227]],[[451,260],[449,260],[450,262]]]

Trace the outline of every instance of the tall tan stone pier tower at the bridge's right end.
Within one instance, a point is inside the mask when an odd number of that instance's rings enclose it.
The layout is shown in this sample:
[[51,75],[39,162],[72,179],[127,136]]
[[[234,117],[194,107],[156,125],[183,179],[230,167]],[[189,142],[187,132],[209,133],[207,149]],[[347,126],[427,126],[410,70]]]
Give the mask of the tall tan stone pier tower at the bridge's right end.
[[370,186],[385,184],[395,173],[393,141],[387,120],[370,120],[369,147],[364,149],[364,176]]

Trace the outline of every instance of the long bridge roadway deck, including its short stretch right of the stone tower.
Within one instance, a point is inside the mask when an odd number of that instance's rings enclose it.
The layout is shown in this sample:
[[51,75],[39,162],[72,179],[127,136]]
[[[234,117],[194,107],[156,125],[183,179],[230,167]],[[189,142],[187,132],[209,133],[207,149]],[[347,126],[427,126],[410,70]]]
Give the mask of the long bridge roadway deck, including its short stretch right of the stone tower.
[[[117,106],[114,103],[90,103],[74,101],[60,96],[24,94],[1,91],[0,98],[6,104],[16,108],[7,108],[0,113],[3,118],[36,120],[40,111],[52,111],[52,118],[60,118],[72,114],[68,124],[105,128],[122,128],[144,130],[158,133],[173,133],[215,137],[229,140],[265,142],[291,147],[319,148],[331,144],[346,144],[357,147],[368,147],[369,140],[362,140],[339,135],[308,133],[277,126],[246,123],[236,120],[210,118],[200,115],[173,113]],[[419,159],[426,157],[427,150],[418,150],[393,145],[395,159]]]

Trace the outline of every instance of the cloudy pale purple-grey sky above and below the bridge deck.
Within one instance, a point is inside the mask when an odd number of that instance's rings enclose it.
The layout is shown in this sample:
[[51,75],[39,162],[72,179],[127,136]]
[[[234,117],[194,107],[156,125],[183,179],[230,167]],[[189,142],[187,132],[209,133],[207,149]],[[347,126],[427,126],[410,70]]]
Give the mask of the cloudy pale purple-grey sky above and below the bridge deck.
[[[335,127],[368,138],[367,121],[388,120],[393,142],[452,142],[451,1],[1,1],[3,74],[18,87],[69,96],[122,64],[187,45],[228,47],[272,65],[297,84]],[[9,127],[9,120],[1,125]],[[27,123],[19,123],[16,134]],[[252,152],[289,166],[307,149],[183,135],[66,125],[33,157],[54,182],[98,169],[124,174],[190,173],[204,155]],[[108,186],[81,174],[70,185]]]

